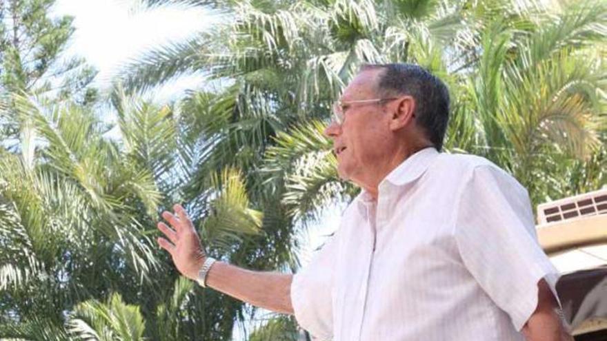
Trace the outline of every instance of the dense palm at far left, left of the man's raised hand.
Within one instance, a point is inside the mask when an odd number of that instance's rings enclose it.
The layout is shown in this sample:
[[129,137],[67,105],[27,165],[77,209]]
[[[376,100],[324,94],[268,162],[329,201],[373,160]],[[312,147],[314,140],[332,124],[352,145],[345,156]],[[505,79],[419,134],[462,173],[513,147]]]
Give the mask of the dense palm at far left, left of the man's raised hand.
[[13,103],[27,130],[21,153],[0,157],[0,323],[61,325],[81,300],[117,289],[136,296],[160,267],[143,234],[159,203],[150,172],[81,107],[19,95]]

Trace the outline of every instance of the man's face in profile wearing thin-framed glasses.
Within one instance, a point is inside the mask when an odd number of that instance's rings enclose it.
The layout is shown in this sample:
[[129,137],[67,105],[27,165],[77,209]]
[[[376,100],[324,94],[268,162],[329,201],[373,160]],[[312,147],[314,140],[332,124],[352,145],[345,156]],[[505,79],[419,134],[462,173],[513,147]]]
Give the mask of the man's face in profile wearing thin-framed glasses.
[[[344,90],[341,101],[378,99],[376,85],[382,70],[360,72]],[[333,122],[325,134],[333,140],[337,154],[337,171],[341,178],[362,185],[366,179],[381,169],[390,152],[392,134],[389,129],[390,115],[382,103],[352,103],[344,107],[344,121]]]

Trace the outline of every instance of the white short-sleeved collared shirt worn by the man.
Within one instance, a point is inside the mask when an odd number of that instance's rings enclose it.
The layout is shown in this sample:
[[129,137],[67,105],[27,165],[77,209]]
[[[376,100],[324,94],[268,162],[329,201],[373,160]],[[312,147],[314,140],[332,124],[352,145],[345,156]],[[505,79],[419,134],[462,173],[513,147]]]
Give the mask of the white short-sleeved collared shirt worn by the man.
[[537,283],[558,272],[526,189],[484,158],[417,152],[361,193],[291,286],[321,340],[524,340]]

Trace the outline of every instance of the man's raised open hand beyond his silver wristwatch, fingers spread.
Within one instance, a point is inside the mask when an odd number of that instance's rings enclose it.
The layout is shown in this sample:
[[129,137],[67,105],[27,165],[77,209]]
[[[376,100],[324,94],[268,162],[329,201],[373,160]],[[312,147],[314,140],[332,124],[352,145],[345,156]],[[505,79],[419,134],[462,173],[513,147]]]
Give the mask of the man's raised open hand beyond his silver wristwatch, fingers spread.
[[179,204],[173,206],[173,209],[175,214],[162,212],[162,218],[170,227],[163,222],[158,223],[158,229],[166,237],[158,237],[158,244],[168,251],[175,267],[183,276],[196,280],[206,253],[186,210]]

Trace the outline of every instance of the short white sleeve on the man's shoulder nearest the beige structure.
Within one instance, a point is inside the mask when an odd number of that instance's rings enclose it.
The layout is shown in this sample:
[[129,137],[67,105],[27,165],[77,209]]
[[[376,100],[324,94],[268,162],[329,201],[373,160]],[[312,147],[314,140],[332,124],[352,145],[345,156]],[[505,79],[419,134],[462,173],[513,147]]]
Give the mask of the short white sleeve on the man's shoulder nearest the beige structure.
[[454,234],[464,266],[521,331],[537,307],[539,280],[559,302],[559,273],[537,242],[527,191],[501,169],[481,165],[459,200]]

